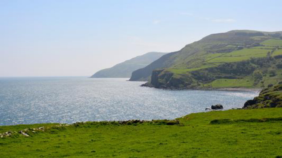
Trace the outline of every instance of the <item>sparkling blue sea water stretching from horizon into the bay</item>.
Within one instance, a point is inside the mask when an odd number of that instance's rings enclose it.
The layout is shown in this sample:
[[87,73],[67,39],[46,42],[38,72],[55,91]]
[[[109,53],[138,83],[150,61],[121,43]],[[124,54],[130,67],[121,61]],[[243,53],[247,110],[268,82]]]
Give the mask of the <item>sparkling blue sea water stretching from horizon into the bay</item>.
[[0,78],[0,125],[174,119],[222,104],[242,107],[255,92],[160,90],[126,78]]

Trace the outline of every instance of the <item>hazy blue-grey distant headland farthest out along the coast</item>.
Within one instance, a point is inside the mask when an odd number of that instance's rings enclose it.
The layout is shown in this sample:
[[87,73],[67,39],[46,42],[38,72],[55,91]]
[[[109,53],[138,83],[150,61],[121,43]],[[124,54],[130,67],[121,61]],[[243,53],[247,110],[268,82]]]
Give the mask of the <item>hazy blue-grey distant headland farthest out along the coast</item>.
[[144,68],[166,53],[149,52],[96,72],[90,78],[130,78],[133,71]]

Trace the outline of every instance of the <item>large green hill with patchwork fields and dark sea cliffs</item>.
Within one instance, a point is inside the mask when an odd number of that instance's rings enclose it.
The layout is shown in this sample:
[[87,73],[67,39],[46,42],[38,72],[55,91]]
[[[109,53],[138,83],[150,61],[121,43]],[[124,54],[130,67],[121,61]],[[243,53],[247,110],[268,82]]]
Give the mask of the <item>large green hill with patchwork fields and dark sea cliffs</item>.
[[132,73],[156,88],[265,87],[282,79],[282,32],[212,34]]

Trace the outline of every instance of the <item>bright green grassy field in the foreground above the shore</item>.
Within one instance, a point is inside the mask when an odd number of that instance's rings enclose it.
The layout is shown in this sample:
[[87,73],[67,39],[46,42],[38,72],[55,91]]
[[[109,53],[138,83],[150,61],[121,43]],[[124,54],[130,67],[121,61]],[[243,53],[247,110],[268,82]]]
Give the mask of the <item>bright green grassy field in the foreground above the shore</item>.
[[[50,128],[0,139],[1,157],[276,157],[282,156],[282,121],[212,124],[217,119],[282,116],[282,108],[189,114],[181,125],[103,125]],[[50,124],[21,125],[24,128]],[[1,131],[21,126],[0,126]]]

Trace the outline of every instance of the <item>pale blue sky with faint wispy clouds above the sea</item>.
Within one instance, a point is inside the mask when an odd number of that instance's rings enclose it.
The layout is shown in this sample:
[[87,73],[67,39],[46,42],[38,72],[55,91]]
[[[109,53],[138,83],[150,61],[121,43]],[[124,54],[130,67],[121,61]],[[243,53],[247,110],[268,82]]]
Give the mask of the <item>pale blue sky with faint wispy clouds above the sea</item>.
[[0,0],[0,77],[91,76],[229,30],[282,31],[281,0]]

